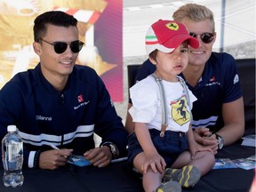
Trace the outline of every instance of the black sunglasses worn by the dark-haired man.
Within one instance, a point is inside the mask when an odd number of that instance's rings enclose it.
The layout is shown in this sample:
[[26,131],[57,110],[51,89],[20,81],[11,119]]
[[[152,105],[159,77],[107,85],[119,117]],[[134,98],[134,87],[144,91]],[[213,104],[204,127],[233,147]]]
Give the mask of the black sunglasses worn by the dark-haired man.
[[[56,53],[58,53],[58,54],[61,54],[61,53],[65,52],[67,50],[67,48],[68,48],[68,43],[66,43],[66,42],[53,42],[53,43],[50,43],[50,42],[45,41],[43,38],[39,38],[38,41],[39,40],[42,40],[42,41],[44,41],[47,44],[52,44],[52,46],[54,46],[54,51]],[[79,41],[79,40],[76,40],[76,41],[71,42],[69,44],[71,51],[74,52],[74,53],[80,52],[82,47],[83,47],[83,45],[84,45],[84,43]]]

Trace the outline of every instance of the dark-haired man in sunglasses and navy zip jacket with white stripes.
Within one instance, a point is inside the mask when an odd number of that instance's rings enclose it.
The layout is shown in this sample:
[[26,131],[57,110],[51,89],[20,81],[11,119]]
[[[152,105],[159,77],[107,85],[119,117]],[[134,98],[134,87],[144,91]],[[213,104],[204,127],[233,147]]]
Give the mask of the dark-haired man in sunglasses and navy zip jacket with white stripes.
[[[16,124],[29,168],[54,170],[72,154],[99,167],[126,156],[127,133],[105,85],[92,68],[76,65],[84,44],[77,20],[44,12],[35,20],[34,40],[40,62],[0,91],[0,139]],[[97,148],[94,132],[102,138]]]

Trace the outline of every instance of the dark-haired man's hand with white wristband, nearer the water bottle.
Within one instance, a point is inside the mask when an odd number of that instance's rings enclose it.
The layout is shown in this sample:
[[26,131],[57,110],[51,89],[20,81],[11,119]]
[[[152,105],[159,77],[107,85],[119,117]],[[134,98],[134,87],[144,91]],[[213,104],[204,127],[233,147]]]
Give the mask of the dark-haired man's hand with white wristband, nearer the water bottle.
[[71,156],[73,149],[61,148],[44,151],[39,157],[41,169],[54,170],[67,163],[67,156]]

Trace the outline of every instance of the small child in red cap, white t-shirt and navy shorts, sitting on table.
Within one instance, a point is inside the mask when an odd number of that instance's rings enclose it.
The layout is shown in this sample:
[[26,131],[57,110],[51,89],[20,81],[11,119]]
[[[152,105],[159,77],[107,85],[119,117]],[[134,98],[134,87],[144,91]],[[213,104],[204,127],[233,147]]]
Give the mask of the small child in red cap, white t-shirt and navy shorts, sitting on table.
[[156,21],[146,36],[156,71],[130,89],[135,128],[128,140],[128,163],[143,174],[146,192],[193,187],[215,162],[211,148],[203,151],[196,145],[190,125],[196,97],[178,76],[188,65],[188,45],[197,48],[199,42],[183,24]]

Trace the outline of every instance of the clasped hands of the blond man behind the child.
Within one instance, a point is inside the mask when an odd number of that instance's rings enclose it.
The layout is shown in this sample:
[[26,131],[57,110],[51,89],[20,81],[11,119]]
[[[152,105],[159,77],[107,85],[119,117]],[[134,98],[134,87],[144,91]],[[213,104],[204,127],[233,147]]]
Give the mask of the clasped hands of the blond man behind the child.
[[199,127],[194,131],[194,137],[196,142],[202,147],[212,148],[214,154],[218,150],[218,140],[216,139],[215,134],[209,131],[208,128]]

